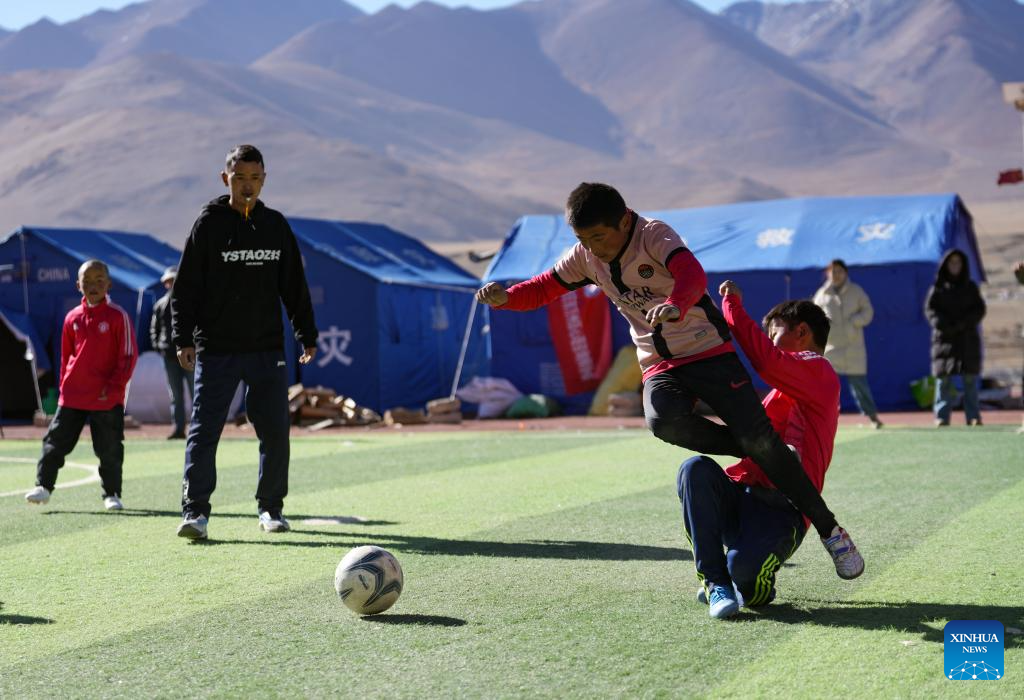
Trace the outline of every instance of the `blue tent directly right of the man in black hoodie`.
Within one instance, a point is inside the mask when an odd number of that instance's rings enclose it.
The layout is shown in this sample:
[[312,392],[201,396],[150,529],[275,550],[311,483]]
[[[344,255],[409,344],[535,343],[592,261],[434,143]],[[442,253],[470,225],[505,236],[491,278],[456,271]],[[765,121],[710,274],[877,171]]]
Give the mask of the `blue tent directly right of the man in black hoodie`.
[[[378,411],[447,396],[479,281],[387,226],[289,217],[305,261],[319,347],[300,368]],[[465,377],[486,357],[474,315]]]

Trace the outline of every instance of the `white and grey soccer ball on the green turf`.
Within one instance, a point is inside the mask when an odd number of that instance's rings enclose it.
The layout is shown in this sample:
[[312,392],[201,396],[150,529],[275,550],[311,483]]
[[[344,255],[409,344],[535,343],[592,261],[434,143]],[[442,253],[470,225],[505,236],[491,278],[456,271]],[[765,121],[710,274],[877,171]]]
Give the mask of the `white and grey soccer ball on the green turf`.
[[342,603],[360,615],[376,615],[390,608],[404,582],[394,555],[373,544],[349,552],[334,572],[334,589]]

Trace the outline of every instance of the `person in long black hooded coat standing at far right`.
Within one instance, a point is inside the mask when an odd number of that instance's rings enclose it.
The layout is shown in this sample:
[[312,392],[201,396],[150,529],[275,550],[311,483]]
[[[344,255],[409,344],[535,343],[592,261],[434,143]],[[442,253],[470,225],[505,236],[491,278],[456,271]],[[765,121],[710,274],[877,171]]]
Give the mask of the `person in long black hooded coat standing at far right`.
[[967,256],[949,251],[928,291],[925,314],[932,324],[932,374],[935,376],[935,425],[949,425],[952,378],[964,380],[964,412],[969,426],[981,425],[978,375],[981,373],[981,335],[985,302],[971,280]]

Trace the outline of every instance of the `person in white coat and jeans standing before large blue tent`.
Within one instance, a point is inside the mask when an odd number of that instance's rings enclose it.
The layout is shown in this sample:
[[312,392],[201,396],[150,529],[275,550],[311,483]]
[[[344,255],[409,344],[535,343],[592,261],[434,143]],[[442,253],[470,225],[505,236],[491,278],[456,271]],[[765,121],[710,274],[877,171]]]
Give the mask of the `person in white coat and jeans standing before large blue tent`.
[[836,374],[845,377],[857,408],[870,420],[876,428],[882,427],[879,410],[867,385],[867,351],[864,349],[864,326],[871,322],[874,309],[871,300],[850,280],[846,263],[833,260],[825,268],[827,280],[814,294],[814,303],[820,306],[831,322],[825,358],[831,362]]

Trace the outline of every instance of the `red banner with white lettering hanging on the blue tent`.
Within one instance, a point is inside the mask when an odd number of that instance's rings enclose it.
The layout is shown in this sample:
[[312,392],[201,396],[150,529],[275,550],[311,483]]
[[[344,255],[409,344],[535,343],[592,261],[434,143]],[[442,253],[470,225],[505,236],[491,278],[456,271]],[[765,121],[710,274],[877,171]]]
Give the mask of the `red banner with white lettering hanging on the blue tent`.
[[548,329],[566,395],[597,389],[611,366],[611,313],[601,290],[585,287],[549,304]]

